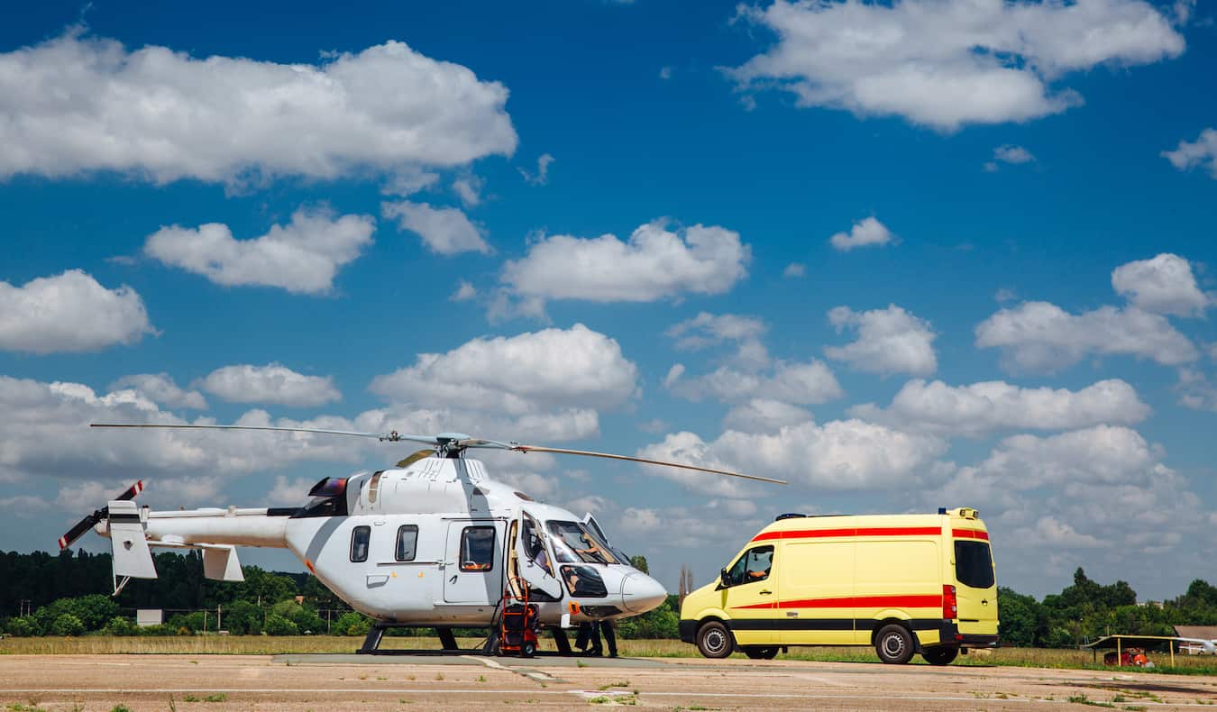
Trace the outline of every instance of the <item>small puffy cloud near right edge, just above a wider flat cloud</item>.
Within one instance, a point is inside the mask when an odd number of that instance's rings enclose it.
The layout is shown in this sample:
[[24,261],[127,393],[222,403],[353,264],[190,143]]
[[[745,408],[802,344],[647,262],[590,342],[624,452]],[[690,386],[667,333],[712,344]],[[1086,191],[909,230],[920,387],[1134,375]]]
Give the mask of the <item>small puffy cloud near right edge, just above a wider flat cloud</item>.
[[1212,302],[1196,286],[1191,263],[1167,252],[1117,267],[1111,286],[1139,309],[1176,316],[1202,315]]

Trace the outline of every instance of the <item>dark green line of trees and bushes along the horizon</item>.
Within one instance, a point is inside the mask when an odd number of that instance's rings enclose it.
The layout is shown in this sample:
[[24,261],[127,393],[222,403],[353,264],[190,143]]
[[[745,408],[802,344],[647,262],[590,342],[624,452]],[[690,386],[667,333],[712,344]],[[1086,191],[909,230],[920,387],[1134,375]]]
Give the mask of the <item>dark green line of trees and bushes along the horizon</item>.
[[[223,629],[231,634],[364,635],[371,622],[352,611],[310,573],[245,566],[245,581],[203,577],[197,551],[156,554],[159,578],[131,579],[111,590],[110,554],[0,553],[0,630],[10,635],[179,635]],[[643,570],[646,561],[635,557]],[[136,609],[162,609],[161,626],[136,627]],[[1173,635],[1173,626],[1217,626],[1217,587],[1196,579],[1161,604],[1138,605],[1123,581],[1100,584],[1082,568],[1073,583],[1043,600],[998,589],[1000,637],[1026,647],[1069,647],[1109,633]],[[618,622],[618,637],[678,638],[680,606],[668,596],[658,609]],[[430,634],[391,630],[392,634]]]

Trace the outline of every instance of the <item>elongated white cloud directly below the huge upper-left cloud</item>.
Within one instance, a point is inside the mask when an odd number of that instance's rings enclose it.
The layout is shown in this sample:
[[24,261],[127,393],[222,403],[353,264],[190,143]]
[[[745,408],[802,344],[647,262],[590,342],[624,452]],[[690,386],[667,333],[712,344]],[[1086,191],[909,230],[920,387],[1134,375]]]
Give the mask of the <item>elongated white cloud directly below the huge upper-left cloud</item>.
[[324,208],[299,208],[287,225],[252,240],[235,240],[228,225],[173,225],[148,236],[144,253],[224,286],[281,287],[295,295],[324,295],[338,269],[372,242],[368,215],[335,219]]

